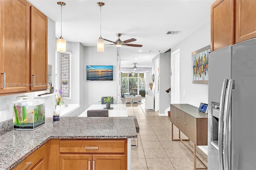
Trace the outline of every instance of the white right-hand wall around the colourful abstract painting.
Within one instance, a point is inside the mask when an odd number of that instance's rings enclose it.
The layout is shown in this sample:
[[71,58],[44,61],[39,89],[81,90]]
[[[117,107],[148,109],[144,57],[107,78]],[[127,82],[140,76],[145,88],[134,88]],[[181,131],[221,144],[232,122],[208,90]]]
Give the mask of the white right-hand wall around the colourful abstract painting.
[[[210,21],[193,34],[172,47],[171,52],[180,49],[180,103],[199,107],[200,103],[208,103],[208,84],[192,83],[192,52],[209,45]],[[185,91],[185,95],[183,92]],[[172,91],[170,92],[172,93]],[[200,146],[207,153],[208,146]]]

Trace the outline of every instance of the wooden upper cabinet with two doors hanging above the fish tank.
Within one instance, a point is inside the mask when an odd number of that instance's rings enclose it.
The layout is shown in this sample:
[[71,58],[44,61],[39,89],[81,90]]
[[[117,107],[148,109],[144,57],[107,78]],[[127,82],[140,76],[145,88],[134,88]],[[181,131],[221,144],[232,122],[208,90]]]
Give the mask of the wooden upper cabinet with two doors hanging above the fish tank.
[[26,0],[0,0],[0,18],[0,95],[47,89],[47,17]]

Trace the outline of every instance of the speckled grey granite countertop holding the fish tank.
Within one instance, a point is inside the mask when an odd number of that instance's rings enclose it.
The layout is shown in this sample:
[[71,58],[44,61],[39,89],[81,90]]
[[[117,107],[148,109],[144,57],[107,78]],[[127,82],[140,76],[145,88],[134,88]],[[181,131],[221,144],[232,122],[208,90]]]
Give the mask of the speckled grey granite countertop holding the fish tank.
[[60,117],[35,130],[0,132],[0,170],[11,169],[49,139],[136,138],[132,117]]

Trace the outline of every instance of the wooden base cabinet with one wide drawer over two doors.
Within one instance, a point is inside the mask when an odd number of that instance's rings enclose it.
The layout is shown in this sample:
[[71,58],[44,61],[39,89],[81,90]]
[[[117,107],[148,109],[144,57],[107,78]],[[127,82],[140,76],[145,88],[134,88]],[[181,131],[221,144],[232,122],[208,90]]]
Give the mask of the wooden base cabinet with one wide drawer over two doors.
[[127,169],[126,139],[60,140],[58,151],[60,170]]

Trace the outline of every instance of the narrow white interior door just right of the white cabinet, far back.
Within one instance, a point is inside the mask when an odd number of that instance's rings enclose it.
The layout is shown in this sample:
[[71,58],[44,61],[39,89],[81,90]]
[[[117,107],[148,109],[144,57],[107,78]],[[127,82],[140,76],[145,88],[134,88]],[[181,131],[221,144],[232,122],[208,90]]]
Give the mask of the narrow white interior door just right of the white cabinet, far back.
[[156,64],[156,75],[155,75],[155,112],[158,112],[158,108],[159,108],[159,58],[155,60],[155,64]]

